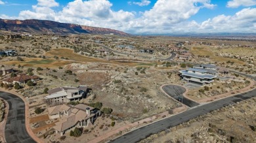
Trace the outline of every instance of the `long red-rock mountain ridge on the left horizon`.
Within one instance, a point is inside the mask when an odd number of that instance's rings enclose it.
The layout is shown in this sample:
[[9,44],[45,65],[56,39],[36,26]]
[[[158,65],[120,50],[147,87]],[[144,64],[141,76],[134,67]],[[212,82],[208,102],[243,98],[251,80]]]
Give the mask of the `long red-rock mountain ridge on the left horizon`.
[[64,24],[49,20],[3,20],[0,19],[0,30],[11,31],[14,33],[33,33],[33,34],[110,34],[128,36],[128,33],[114,29],[91,27],[77,24]]

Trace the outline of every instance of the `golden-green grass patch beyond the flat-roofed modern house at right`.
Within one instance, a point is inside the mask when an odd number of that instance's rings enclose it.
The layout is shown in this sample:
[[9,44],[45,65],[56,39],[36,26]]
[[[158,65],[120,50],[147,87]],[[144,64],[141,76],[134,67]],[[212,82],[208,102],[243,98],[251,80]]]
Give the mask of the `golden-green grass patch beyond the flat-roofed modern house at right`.
[[196,56],[209,56],[209,59],[211,59],[212,61],[217,61],[219,63],[234,61],[234,63],[237,63],[239,65],[245,64],[244,61],[239,61],[238,59],[216,56],[216,54],[212,52],[209,47],[193,47],[191,48],[190,52],[192,52],[192,54]]

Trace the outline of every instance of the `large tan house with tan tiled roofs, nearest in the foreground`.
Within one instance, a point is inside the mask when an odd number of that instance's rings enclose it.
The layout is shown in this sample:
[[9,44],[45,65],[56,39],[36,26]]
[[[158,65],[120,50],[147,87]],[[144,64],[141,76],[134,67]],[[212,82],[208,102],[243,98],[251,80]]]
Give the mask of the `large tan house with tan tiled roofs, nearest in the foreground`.
[[89,127],[100,116],[100,111],[85,104],[69,106],[61,104],[48,108],[49,118],[60,118],[53,129],[60,136],[74,130],[75,127]]

